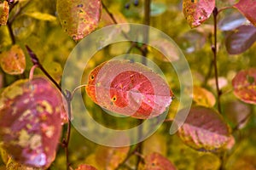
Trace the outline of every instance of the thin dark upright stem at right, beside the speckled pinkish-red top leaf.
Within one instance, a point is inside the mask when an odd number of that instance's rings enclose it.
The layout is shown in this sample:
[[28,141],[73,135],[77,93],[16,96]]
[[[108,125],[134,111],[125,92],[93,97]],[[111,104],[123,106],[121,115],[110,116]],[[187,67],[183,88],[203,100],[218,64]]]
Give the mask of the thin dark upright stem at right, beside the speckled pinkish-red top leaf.
[[212,53],[213,53],[213,67],[214,67],[214,75],[215,75],[215,83],[217,89],[217,105],[218,105],[218,112],[221,113],[221,105],[220,105],[220,97],[221,97],[221,90],[218,86],[218,65],[217,65],[217,16],[218,16],[218,8],[215,7],[213,9],[213,20],[214,20],[214,44],[212,46]]

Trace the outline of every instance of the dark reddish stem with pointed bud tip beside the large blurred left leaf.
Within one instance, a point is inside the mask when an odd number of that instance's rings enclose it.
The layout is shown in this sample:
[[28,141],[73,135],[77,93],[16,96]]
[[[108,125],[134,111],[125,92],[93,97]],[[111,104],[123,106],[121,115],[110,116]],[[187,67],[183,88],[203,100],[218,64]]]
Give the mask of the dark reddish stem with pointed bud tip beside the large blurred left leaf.
[[55,84],[55,87],[59,89],[59,91],[61,92],[62,96],[66,99],[67,101],[67,115],[68,115],[68,122],[67,122],[67,133],[66,133],[66,139],[62,140],[62,146],[65,148],[65,152],[66,152],[66,162],[67,162],[67,170],[70,167],[70,162],[69,162],[69,152],[68,152],[68,144],[69,144],[69,140],[70,140],[70,133],[71,133],[71,101],[72,101],[72,94],[69,91],[66,91],[67,94],[64,93],[64,91],[61,89],[61,86],[55,82],[54,78],[51,77],[49,75],[49,73],[44,69],[44,66],[41,65],[41,63],[39,62],[38,56],[36,54],[34,54],[34,52],[32,51],[31,48],[29,48],[26,45],[26,50],[28,52],[28,54],[30,55],[30,58],[32,60],[33,63],[33,67],[32,70],[30,72],[30,78],[32,77],[32,73],[33,70],[35,69],[35,67],[37,66],[41,71],[44,72],[44,75],[46,77],[49,78],[49,80],[51,82],[53,82]]

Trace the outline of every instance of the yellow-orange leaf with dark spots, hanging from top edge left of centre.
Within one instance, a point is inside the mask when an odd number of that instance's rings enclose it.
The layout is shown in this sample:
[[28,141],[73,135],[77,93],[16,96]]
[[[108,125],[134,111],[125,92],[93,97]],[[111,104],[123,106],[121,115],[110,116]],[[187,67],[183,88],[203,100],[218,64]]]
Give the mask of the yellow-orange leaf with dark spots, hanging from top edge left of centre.
[[57,0],[61,26],[67,35],[78,41],[94,31],[100,21],[100,0]]

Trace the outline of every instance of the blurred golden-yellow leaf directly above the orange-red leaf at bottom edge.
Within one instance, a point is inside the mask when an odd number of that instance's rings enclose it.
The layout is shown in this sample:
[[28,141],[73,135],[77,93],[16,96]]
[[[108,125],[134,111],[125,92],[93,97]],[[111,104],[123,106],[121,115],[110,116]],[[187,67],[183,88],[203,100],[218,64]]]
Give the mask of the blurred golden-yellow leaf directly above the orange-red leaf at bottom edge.
[[165,156],[167,151],[166,137],[160,133],[154,133],[143,142],[143,155],[149,155],[153,152]]

